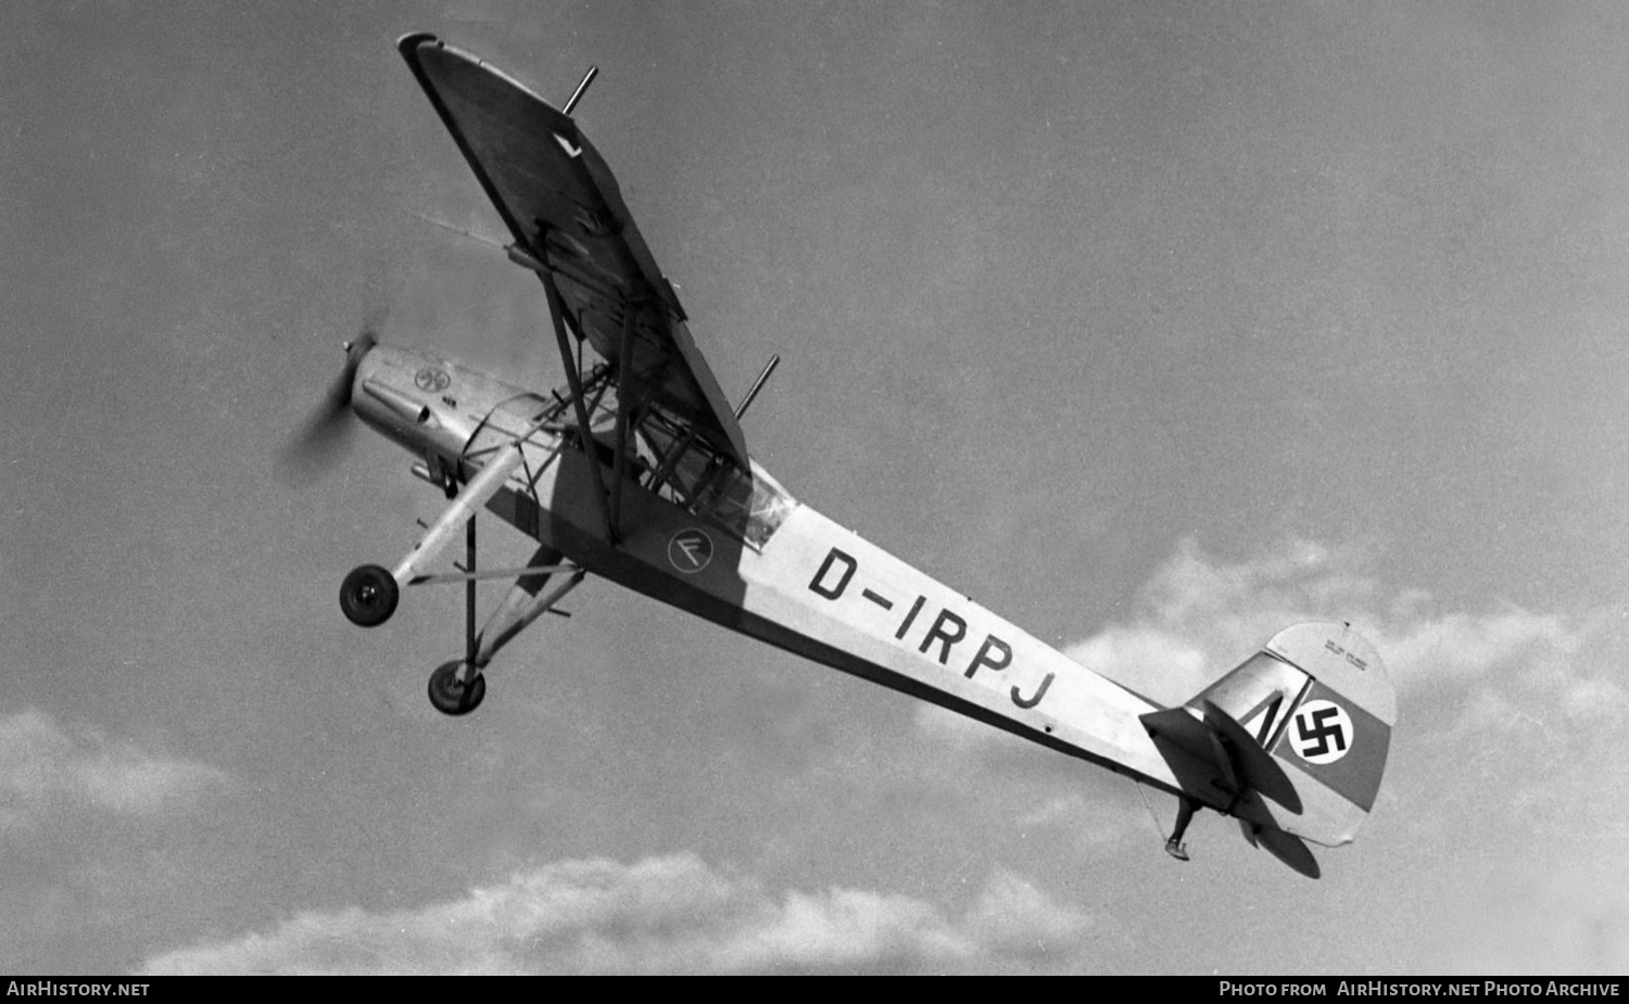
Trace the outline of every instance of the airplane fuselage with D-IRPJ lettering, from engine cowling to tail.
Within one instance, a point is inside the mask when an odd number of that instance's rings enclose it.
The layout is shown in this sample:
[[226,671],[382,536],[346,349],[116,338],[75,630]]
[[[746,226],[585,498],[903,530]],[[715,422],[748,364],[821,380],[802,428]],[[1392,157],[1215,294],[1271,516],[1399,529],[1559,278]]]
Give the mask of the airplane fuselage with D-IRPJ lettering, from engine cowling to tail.
[[[487,509],[591,574],[816,662],[1178,792],[1139,719],[1160,706],[793,500],[756,462],[681,504],[629,462],[619,532],[595,498],[603,452],[539,421],[549,399],[433,353],[378,347],[357,369],[363,421],[464,482],[521,439]],[[567,418],[569,421],[569,418]],[[591,465],[598,465],[598,477]],[[1218,805],[1220,807],[1220,805]]]

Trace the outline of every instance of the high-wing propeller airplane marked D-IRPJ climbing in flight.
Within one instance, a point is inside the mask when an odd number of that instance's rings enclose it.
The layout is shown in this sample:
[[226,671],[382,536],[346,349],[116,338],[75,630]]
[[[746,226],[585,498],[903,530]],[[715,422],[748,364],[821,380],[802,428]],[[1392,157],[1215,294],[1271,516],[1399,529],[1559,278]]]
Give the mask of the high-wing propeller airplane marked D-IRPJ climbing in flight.
[[[1005,729],[1178,797],[1165,849],[1188,859],[1197,809],[1316,879],[1308,843],[1350,843],[1380,791],[1396,692],[1349,623],[1292,625],[1181,706],[1072,661],[964,594],[798,501],[748,449],[689,317],[572,112],[433,34],[397,42],[508,229],[510,262],[542,283],[565,386],[541,394],[433,351],[345,343],[329,404],[300,449],[352,412],[406,447],[441,516],[393,568],[345,576],[355,625],[401,591],[464,584],[464,654],[430,703],[468,714],[492,659],[586,576],[608,579],[814,662]],[[523,565],[477,568],[485,509],[536,540]],[[464,530],[464,563],[438,557]],[[476,628],[476,583],[510,579]]]

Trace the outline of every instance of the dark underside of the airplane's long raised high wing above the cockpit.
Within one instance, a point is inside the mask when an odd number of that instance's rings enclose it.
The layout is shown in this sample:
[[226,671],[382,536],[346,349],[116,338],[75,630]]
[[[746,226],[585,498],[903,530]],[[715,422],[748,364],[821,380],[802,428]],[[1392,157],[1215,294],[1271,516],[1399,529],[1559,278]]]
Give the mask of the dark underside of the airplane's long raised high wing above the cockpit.
[[741,426],[593,143],[526,86],[432,34],[397,47],[513,234],[510,257],[552,283],[551,309],[616,368],[619,397],[748,470]]

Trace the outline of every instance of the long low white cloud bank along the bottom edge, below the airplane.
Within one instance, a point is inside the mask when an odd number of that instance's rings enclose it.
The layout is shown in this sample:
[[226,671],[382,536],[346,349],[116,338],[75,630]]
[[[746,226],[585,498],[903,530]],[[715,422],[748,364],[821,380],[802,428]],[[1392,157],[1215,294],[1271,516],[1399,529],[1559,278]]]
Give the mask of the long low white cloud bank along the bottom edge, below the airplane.
[[145,973],[751,973],[1033,967],[1090,928],[997,871],[959,921],[902,895],[771,893],[694,854],[564,861],[419,910],[301,913]]

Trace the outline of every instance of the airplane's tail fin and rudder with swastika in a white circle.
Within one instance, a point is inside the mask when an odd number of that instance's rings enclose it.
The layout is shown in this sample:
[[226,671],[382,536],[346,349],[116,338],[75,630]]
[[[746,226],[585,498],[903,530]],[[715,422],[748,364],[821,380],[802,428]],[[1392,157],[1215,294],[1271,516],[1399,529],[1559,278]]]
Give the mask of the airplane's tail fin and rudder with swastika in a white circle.
[[[1155,740],[1201,753],[1245,836],[1302,874],[1297,838],[1352,843],[1375,805],[1398,700],[1386,669],[1350,625],[1302,623],[1188,701],[1144,716]],[[1205,792],[1214,804],[1214,791]],[[1256,797],[1261,796],[1261,797]]]

